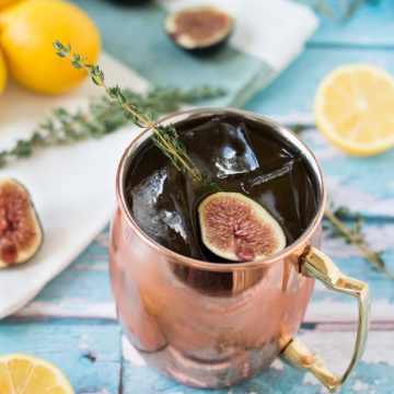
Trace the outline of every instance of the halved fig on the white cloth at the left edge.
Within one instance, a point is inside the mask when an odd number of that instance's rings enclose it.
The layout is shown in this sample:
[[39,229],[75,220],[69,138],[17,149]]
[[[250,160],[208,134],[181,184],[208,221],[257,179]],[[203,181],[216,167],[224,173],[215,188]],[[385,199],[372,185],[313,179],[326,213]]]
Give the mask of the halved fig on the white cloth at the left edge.
[[30,260],[43,244],[43,229],[27,189],[0,181],[0,268]]

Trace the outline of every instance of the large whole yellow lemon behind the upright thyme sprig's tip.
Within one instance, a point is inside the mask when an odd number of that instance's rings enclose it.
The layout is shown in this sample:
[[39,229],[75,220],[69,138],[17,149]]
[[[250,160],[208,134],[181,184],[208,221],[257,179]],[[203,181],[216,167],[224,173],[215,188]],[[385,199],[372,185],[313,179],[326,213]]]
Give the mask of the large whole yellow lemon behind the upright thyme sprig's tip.
[[55,55],[55,39],[70,43],[90,62],[96,60],[101,47],[92,20],[71,3],[30,0],[0,13],[0,44],[10,73],[33,91],[62,93],[86,77]]

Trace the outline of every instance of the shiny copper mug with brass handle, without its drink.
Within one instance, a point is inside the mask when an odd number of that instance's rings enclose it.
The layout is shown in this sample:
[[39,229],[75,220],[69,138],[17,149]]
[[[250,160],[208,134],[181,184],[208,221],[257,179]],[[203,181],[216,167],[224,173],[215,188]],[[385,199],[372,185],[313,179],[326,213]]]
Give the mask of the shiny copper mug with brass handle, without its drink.
[[[236,114],[279,134],[308,161],[316,178],[318,209],[302,236],[277,255],[243,264],[216,264],[176,254],[137,225],[125,200],[125,174],[147,129],[127,148],[117,173],[109,265],[118,318],[146,361],[181,383],[197,387],[236,384],[278,356],[311,371],[329,390],[350,375],[367,340],[370,298],[364,282],[346,277],[318,250],[326,189],[322,170],[306,146],[281,125],[243,111],[194,109],[164,118],[167,125],[207,115]],[[294,338],[315,279],[358,301],[356,346],[337,378]]]

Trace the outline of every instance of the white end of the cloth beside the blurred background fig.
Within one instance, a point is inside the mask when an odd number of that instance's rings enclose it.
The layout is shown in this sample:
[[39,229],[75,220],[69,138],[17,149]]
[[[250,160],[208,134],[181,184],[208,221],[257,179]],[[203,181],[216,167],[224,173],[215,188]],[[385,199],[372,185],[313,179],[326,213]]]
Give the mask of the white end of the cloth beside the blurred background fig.
[[217,5],[235,20],[230,45],[282,71],[302,51],[318,26],[314,12],[289,0],[161,0],[178,11],[190,7]]

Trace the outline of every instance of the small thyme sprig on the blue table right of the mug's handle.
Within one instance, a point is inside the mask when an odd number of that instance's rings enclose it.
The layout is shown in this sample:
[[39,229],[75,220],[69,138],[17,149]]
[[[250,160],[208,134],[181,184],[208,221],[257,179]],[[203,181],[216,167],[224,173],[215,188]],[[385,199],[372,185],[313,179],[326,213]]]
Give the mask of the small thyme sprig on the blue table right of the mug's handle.
[[[352,228],[346,225],[343,221],[344,217],[355,218]],[[362,223],[364,219],[360,213],[352,213],[347,207],[338,207],[336,209],[326,209],[324,218],[332,224],[329,235],[332,237],[341,236],[349,244],[355,245],[361,255],[379,271],[383,273],[387,278],[394,280],[394,274],[391,273],[385,265],[381,253],[371,250],[366,235],[362,233]]]

